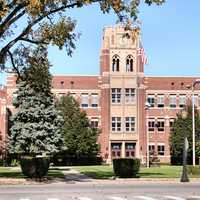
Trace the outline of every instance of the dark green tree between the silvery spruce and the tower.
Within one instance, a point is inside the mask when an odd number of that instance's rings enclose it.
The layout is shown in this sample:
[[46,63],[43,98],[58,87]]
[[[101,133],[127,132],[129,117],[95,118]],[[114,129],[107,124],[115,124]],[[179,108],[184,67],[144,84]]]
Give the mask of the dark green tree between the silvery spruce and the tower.
[[90,127],[86,112],[80,110],[78,102],[68,94],[60,99],[57,108],[64,118],[63,131],[67,154],[77,158],[96,156],[99,151],[99,130]]

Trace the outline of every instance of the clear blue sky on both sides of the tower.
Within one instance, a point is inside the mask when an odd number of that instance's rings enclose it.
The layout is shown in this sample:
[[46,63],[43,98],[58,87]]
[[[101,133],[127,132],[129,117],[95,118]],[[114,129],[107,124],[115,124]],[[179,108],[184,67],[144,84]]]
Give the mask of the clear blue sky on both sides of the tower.
[[[190,3],[191,2],[191,3]],[[163,6],[140,8],[142,39],[149,59],[149,76],[200,76],[200,1],[166,0]],[[53,74],[98,74],[102,30],[113,26],[116,16],[103,14],[98,5],[74,9],[81,33],[72,57],[52,47],[49,58]],[[0,83],[4,83],[0,74]]]

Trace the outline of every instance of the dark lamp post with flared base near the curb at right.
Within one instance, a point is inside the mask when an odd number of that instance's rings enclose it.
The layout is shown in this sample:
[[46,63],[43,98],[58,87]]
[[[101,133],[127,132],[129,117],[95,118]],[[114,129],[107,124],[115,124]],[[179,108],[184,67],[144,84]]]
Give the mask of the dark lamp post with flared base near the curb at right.
[[[187,118],[187,111],[183,110],[182,113],[182,119],[185,121]],[[185,127],[182,122],[182,131],[183,131],[183,169],[182,169],[182,175],[181,175],[181,182],[189,182],[188,174],[187,174],[187,150],[188,150],[188,140],[185,132]]]

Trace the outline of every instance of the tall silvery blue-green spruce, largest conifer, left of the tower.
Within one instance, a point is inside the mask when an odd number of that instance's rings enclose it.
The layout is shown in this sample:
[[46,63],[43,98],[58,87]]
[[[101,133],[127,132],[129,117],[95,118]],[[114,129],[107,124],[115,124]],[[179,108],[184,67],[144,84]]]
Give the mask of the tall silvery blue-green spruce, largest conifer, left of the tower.
[[25,79],[17,85],[13,105],[10,152],[18,154],[56,153],[63,146],[59,115],[51,93],[51,76],[46,49],[39,47],[26,59]]

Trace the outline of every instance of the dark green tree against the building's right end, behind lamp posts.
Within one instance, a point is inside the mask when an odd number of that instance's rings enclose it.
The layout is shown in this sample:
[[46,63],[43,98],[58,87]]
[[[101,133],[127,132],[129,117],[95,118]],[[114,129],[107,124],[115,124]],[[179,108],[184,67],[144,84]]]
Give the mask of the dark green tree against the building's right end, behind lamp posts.
[[[174,122],[173,131],[170,135],[171,163],[182,164],[183,157],[183,136],[187,136],[189,142],[188,163],[192,163],[192,107],[187,107],[187,118],[183,119],[181,113],[177,114]],[[200,116],[195,109],[195,139],[196,139],[196,158],[200,156]]]

